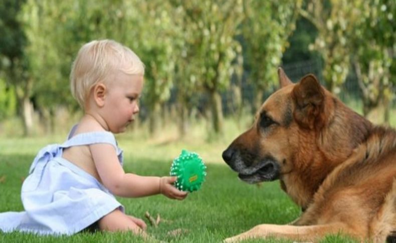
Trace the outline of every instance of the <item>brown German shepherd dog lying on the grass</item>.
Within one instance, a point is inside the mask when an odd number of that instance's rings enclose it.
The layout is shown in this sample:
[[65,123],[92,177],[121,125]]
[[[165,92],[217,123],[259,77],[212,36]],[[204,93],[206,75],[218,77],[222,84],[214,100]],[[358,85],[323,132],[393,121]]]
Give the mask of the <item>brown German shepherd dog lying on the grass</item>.
[[223,159],[245,182],[279,179],[302,214],[288,225],[260,224],[225,241],[317,242],[342,233],[396,242],[396,131],[347,108],[312,74],[296,84],[282,69],[278,76],[281,88]]

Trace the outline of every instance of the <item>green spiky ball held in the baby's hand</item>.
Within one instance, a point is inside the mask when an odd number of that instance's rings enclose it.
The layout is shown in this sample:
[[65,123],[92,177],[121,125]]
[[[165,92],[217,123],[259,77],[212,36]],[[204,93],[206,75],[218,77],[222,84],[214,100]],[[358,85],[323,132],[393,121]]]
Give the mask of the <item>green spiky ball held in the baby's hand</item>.
[[183,149],[181,154],[173,160],[170,175],[177,176],[174,183],[177,189],[193,192],[199,190],[204,183],[206,166],[197,153]]

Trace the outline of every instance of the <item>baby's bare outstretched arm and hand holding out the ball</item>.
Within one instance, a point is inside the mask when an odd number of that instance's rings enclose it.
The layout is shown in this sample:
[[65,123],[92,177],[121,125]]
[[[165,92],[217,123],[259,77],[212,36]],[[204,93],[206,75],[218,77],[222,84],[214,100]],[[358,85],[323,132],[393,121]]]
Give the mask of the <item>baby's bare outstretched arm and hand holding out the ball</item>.
[[89,147],[103,185],[117,196],[141,197],[162,193],[169,198],[181,200],[187,195],[172,185],[176,177],[125,173],[110,144],[92,144]]

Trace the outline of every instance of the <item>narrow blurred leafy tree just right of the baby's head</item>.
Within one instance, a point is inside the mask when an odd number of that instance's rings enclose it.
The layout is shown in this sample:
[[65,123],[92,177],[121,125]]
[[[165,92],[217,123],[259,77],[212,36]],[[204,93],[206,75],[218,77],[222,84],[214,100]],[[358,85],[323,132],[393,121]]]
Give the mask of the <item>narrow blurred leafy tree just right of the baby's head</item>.
[[134,43],[146,68],[143,99],[149,109],[149,132],[153,135],[159,121],[165,123],[161,108],[169,99],[173,87],[174,27],[168,2],[139,2],[135,6],[139,13],[136,17],[143,21],[135,22],[134,28],[138,33],[134,37]]

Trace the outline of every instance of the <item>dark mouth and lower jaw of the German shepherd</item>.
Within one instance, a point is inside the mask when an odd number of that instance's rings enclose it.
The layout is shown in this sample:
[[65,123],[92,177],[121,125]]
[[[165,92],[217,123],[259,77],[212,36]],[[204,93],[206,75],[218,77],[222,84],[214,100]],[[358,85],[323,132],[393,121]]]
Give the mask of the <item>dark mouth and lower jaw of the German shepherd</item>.
[[238,177],[247,183],[273,181],[279,178],[280,167],[274,159],[266,159],[254,167],[239,171]]

